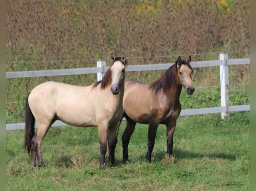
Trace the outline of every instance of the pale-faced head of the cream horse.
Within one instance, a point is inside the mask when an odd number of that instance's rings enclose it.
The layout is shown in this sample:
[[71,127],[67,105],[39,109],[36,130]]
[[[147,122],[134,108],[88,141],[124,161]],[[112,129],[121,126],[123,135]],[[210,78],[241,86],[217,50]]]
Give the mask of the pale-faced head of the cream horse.
[[111,65],[111,76],[112,76],[112,86],[111,92],[114,95],[117,95],[120,90],[120,86],[124,85],[125,79],[125,68],[127,66],[127,60],[125,58],[124,53],[121,57],[114,57],[113,53],[111,54],[111,59],[113,64]]

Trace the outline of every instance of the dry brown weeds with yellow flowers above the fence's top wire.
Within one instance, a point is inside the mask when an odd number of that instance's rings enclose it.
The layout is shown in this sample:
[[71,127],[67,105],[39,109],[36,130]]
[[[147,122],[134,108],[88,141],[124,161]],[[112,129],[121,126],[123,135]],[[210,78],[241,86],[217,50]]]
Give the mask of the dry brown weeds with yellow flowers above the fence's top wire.
[[7,50],[7,62],[249,51],[249,1],[7,1]]

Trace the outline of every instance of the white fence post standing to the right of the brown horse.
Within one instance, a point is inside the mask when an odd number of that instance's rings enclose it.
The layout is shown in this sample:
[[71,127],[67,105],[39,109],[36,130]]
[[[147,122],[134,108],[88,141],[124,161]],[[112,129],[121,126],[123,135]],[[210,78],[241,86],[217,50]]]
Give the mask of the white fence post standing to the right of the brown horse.
[[223,64],[220,65],[220,80],[221,80],[221,106],[225,107],[225,112],[221,112],[221,118],[230,116],[228,112],[229,106],[229,68],[228,68],[228,54],[220,54],[220,60]]

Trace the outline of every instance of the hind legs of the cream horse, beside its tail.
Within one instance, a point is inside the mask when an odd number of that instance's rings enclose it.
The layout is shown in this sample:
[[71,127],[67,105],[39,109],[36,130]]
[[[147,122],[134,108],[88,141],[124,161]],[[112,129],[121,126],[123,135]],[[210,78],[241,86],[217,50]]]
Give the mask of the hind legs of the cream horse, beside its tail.
[[[32,139],[33,146],[34,146],[32,150],[34,149],[34,153],[37,157],[38,167],[43,166],[43,159],[42,159],[40,148],[41,148],[43,137],[46,135],[48,129],[50,128],[50,125],[51,124],[49,125],[38,124],[36,134]],[[32,156],[32,152],[31,152],[31,156]],[[34,162],[34,159],[35,159],[35,156],[33,156],[33,159],[31,158],[31,164],[32,162]]]

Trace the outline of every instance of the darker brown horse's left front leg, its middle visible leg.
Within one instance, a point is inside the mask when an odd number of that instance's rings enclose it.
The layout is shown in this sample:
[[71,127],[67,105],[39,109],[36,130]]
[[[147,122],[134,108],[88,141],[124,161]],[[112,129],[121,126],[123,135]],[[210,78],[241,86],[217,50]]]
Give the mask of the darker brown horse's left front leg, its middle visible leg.
[[158,127],[158,121],[152,120],[148,124],[148,151],[146,160],[151,162],[151,154],[155,144],[155,135]]

